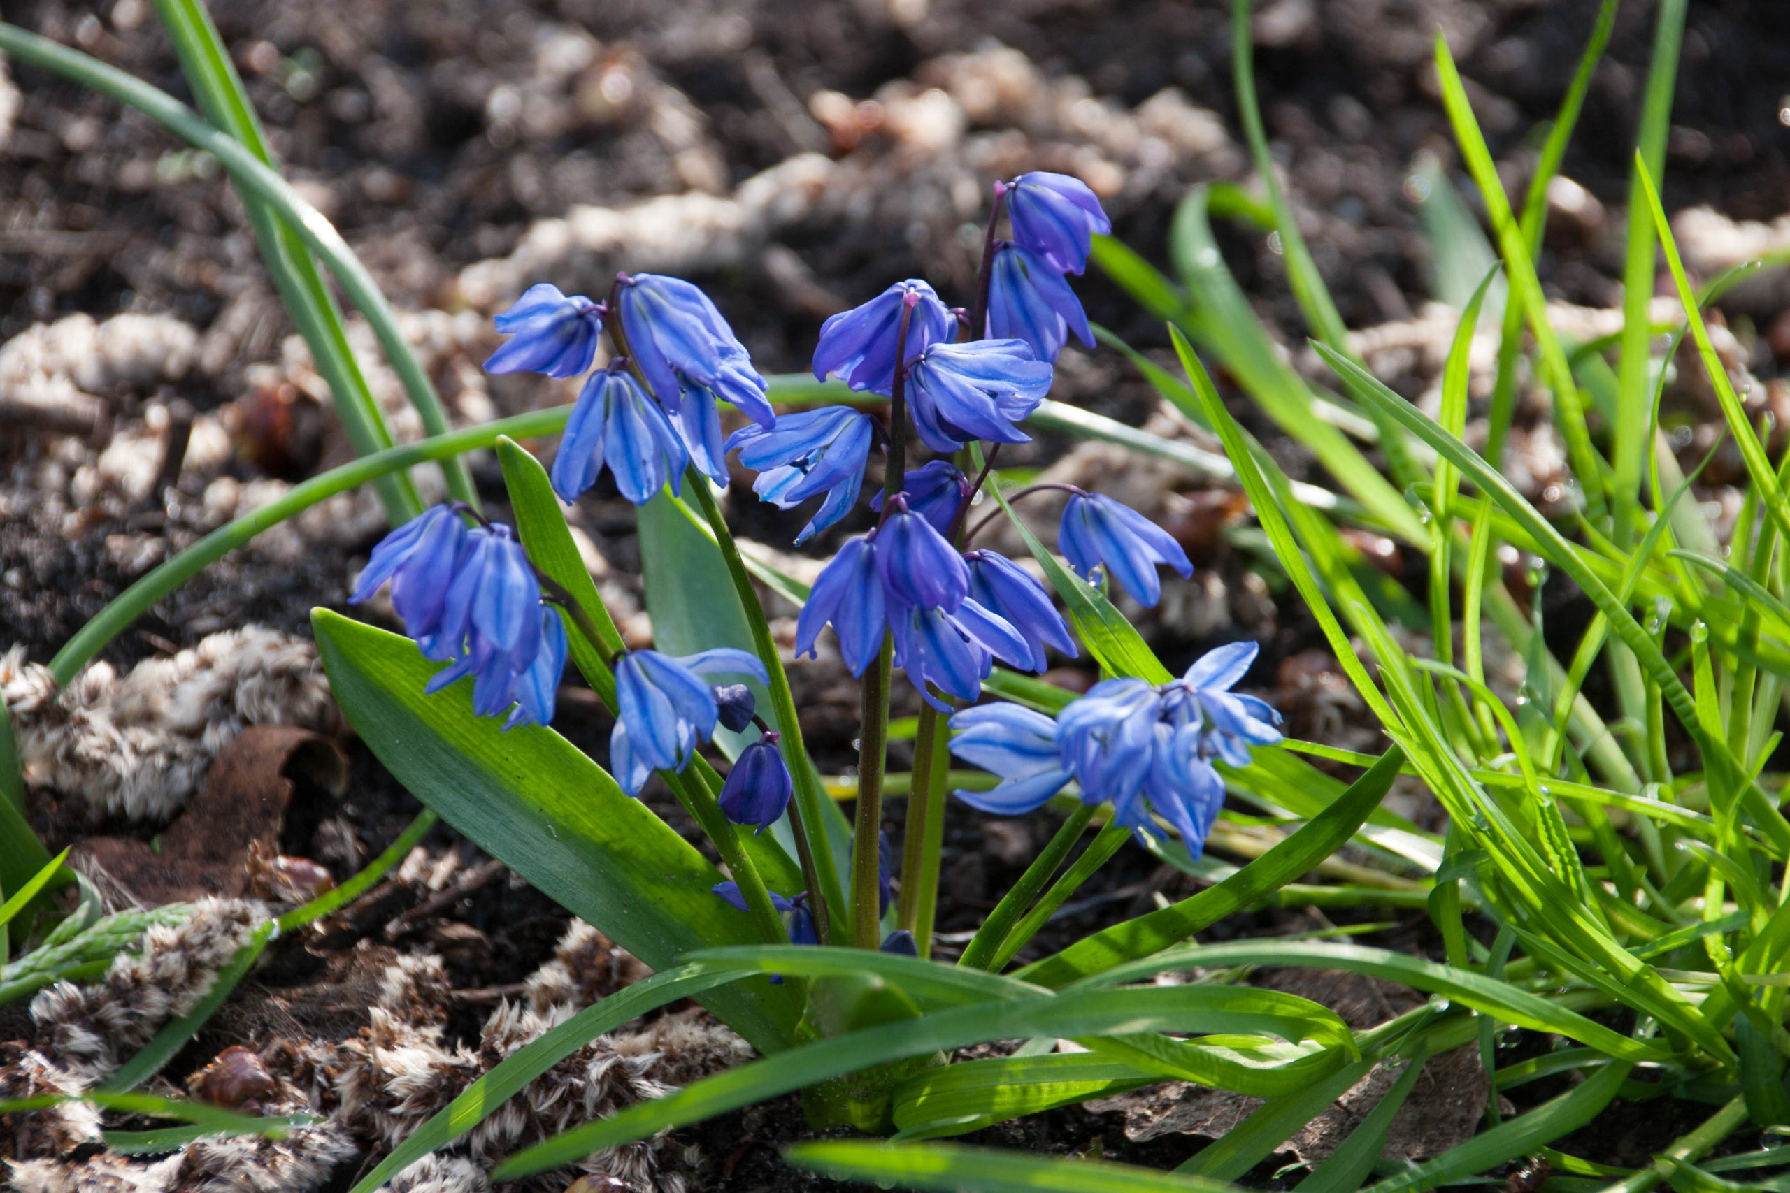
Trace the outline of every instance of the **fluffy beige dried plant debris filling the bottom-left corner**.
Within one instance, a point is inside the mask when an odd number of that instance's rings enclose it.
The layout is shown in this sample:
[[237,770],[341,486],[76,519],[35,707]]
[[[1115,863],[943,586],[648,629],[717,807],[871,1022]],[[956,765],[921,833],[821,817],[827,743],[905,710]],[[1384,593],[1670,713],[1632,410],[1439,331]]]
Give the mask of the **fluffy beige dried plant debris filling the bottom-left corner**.
[[[0,1096],[91,1089],[158,1027],[192,1007],[265,914],[254,903],[200,901],[181,926],[149,932],[141,955],[120,959],[104,982],[64,982],[43,991],[32,1003],[36,1045],[5,1045]],[[224,1048],[186,1079],[190,1096],[215,1105],[311,1114],[320,1121],[283,1139],[211,1138],[165,1159],[134,1159],[93,1154],[91,1146],[102,1143],[97,1111],[64,1104],[0,1120],[0,1129],[11,1132],[11,1139],[0,1136],[0,1157],[11,1161],[13,1186],[27,1193],[304,1193],[353,1155],[385,1154],[517,1048],[646,975],[609,937],[573,921],[553,959],[523,984],[519,1000],[498,1002],[478,1041],[458,1045],[446,1036],[458,994],[439,957],[365,943],[349,957],[331,975],[337,1003],[363,1000],[365,1011],[353,1016],[360,1025],[347,1039],[303,1032],[301,1018],[308,1016],[277,1021],[263,1014],[249,1045]],[[748,1057],[750,1046],[702,1009],[612,1032],[560,1061],[449,1154],[399,1173],[390,1188],[482,1191],[489,1186],[485,1168],[496,1159]],[[684,1193],[702,1164],[700,1148],[659,1136],[591,1155],[575,1170],[596,1188]],[[567,1179],[560,1172],[524,1188],[557,1193]]]

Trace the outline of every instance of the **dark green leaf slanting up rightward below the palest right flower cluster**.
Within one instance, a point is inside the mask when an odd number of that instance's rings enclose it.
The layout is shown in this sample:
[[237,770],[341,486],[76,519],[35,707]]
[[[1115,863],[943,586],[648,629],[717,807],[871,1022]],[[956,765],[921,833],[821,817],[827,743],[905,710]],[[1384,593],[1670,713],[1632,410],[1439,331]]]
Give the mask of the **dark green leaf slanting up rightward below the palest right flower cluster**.
[[1391,789],[1403,760],[1396,748],[1387,749],[1373,769],[1355,780],[1328,808],[1215,887],[1095,932],[1054,957],[1026,966],[1017,977],[1047,987],[1069,986],[1087,975],[1172,948],[1206,925],[1292,882],[1355,835]]

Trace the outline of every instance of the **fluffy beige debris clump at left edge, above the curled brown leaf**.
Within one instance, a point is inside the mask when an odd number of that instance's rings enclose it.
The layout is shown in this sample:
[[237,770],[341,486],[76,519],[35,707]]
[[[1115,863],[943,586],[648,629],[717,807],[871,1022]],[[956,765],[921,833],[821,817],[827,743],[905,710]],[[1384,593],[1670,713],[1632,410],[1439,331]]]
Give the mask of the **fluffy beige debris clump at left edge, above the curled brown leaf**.
[[95,816],[168,819],[245,724],[333,730],[317,647],[260,626],[150,658],[120,676],[95,662],[57,690],[23,647],[0,656],[0,698],[30,787],[81,796]]

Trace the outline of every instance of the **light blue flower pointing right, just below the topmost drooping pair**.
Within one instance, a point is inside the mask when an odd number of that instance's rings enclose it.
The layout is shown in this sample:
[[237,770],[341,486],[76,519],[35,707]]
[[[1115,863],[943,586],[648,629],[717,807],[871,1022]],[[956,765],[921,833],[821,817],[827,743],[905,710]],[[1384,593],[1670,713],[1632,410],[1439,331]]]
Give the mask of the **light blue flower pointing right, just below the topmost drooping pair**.
[[1022,340],[934,343],[908,372],[908,404],[920,438],[933,451],[970,440],[1029,444],[1015,422],[1051,392],[1051,367]]

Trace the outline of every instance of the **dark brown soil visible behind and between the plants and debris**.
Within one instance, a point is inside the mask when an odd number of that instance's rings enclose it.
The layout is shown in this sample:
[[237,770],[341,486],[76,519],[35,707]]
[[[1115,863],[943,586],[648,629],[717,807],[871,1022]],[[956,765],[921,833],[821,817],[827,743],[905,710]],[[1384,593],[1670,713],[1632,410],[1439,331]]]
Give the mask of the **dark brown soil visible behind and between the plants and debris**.
[[[1411,318],[1432,292],[1430,241],[1407,181],[1419,154],[1432,154],[1445,172],[1459,177],[1428,64],[1434,29],[1448,34],[1470,79],[1507,186],[1522,186],[1539,141],[1536,129],[1561,98],[1593,9],[1590,2],[1539,0],[1273,0],[1260,7],[1257,80],[1276,163],[1351,327]],[[61,0],[18,0],[5,16],[186,97],[174,54],[145,0],[115,0],[97,13]],[[734,322],[764,372],[806,368],[822,318],[897,277],[931,277],[947,295],[965,297],[976,243],[965,233],[974,233],[968,224],[981,211],[959,215],[950,182],[972,177],[986,186],[993,173],[981,163],[999,161],[1002,168],[1092,163],[1095,172],[1106,170],[1101,177],[1110,184],[1103,199],[1115,233],[1156,263],[1167,258],[1169,222],[1190,184],[1248,177],[1248,157],[1235,143],[1228,5],[1210,0],[798,5],[238,0],[217,4],[215,16],[288,177],[337,222],[401,309],[467,308],[462,270],[514,252],[533,222],[562,216],[578,204],[623,207],[689,190],[727,195],[802,150],[863,168],[868,182],[850,202],[820,206],[773,229],[763,245],[736,259],[718,258],[687,272]],[[1550,220],[1539,261],[1550,297],[1586,306],[1616,300],[1627,156],[1652,16],[1650,4],[1622,5],[1609,52],[1593,79],[1564,173],[1602,204],[1604,215]],[[1176,88],[1190,106],[1210,109],[1230,131],[1230,141],[1210,152],[1171,147],[1162,159],[1133,156],[1113,165],[1101,159],[1104,150],[1092,132],[1042,125],[1027,132],[995,120],[974,127],[968,141],[959,138],[938,150],[934,161],[911,138],[877,125],[870,107],[850,109],[857,113],[856,125],[813,114],[825,107],[814,98],[825,91],[852,104],[881,97],[881,111],[895,111],[920,89],[909,80],[931,84],[947,73],[947,55],[997,45],[1024,55],[1049,86],[1083,80],[1081,104],[1092,111],[1078,111],[1090,129],[1101,113],[1137,111],[1165,88]],[[584,54],[580,64],[551,73],[553,55],[573,50]],[[292,329],[272,300],[227,181],[109,100],[16,63],[11,73],[21,106],[11,140],[0,138],[0,342],[72,313],[97,320],[116,313],[172,315],[204,334],[217,333],[215,360],[177,379],[118,381],[97,395],[109,406],[111,420],[122,427],[141,420],[150,402],[166,406],[175,399],[200,413],[249,401],[261,385],[256,367],[279,360],[279,345]],[[1668,211],[1709,204],[1735,218],[1770,220],[1790,209],[1790,129],[1779,120],[1781,104],[1770,84],[1761,82],[1785,77],[1790,77],[1790,9],[1769,0],[1690,5],[1674,100]],[[1471,193],[1470,186],[1461,190]],[[1305,329],[1274,249],[1258,233],[1224,224],[1219,236],[1251,302],[1285,343],[1298,343]],[[630,268],[625,254],[616,261],[569,263],[566,270],[596,293],[603,270],[616,267]],[[1097,324],[1158,360],[1171,360],[1160,324],[1110,281],[1090,272],[1078,290]],[[480,313],[489,317],[492,309]],[[1756,315],[1756,326],[1735,318],[1749,351],[1747,365],[1761,381],[1776,379],[1783,363],[1774,354],[1779,338],[1767,334],[1772,315]],[[1790,358],[1790,343],[1783,345],[1783,356]],[[476,367],[476,358],[467,356],[462,365]],[[442,386],[453,399],[456,383],[448,374],[444,368]],[[1058,388],[1056,397],[1129,424],[1142,424],[1158,404],[1153,390],[1135,372],[1117,367],[1106,351],[1065,356]],[[517,413],[566,395],[499,379],[489,386],[489,397],[496,413]],[[1228,397],[1289,469],[1323,481],[1273,424],[1235,392]],[[1534,411],[1525,419],[1532,422]],[[329,435],[335,438],[324,442],[337,442],[338,451],[340,436]],[[47,497],[36,467],[59,438],[41,427],[14,426],[0,435],[0,463],[11,467],[0,481],[0,576],[5,578],[0,646],[23,644],[38,662],[136,578],[138,571],[120,562],[111,546],[116,537],[165,537],[163,551],[172,554],[202,529],[170,517],[163,508],[170,494],[156,492],[95,506],[52,531],[48,515],[39,517]],[[277,469],[285,479],[333,461],[328,447],[320,453],[308,453],[304,444],[279,447],[292,449]],[[1072,447],[1063,436],[1040,435],[1010,449],[1002,463],[1047,467]],[[217,474],[249,483],[268,470],[265,453],[240,451]],[[476,478],[492,513],[501,517],[501,476],[485,460],[476,463]],[[183,479],[174,490],[175,504],[197,499],[206,479]],[[1201,488],[1185,481],[1181,492],[1201,497]],[[743,533],[777,546],[788,544],[807,517],[755,503],[743,476],[736,478],[730,512]],[[1210,510],[1203,517],[1223,522]],[[580,503],[573,520],[612,565],[618,583],[637,588],[632,576],[639,571],[639,549],[626,503],[596,494]],[[807,554],[825,556],[854,529],[859,526],[847,520],[822,535]],[[1196,562],[1233,587],[1251,571],[1248,556],[1210,524],[1189,526],[1183,537],[1190,547],[1203,544],[1205,554],[1196,551]],[[308,635],[313,606],[345,610],[349,578],[374,538],[315,538],[299,554],[238,551],[159,603],[104,658],[131,665],[251,621]],[[1559,580],[1545,592],[1545,610],[1550,642],[1588,615],[1582,596]],[[1237,637],[1233,624],[1190,630],[1155,617],[1140,624],[1172,667]],[[1274,699],[1294,721],[1296,735],[1330,730],[1339,744],[1377,748],[1359,706],[1335,696],[1334,660],[1312,655],[1321,639],[1291,592],[1266,597],[1264,621],[1248,631],[1262,640],[1264,651],[1246,687]],[[1087,673],[1081,676],[1085,681]],[[1595,687],[1590,692],[1598,696]],[[816,714],[809,737],[822,769],[838,773],[854,760],[856,726],[831,715],[838,708],[827,708],[831,719],[820,723]],[[555,728],[600,762],[607,758],[609,719],[587,694],[562,698]],[[1364,733],[1366,742],[1335,737],[1346,732]],[[363,746],[349,748],[349,767],[344,796],[299,785],[279,841],[283,853],[324,860],[337,880],[378,855],[419,810]],[[666,792],[650,791],[648,801],[700,842],[695,825]],[[93,832],[149,837],[156,830],[122,825],[95,830],[84,808],[68,800],[39,801],[34,812],[52,850]],[[342,826],[351,837],[347,848]],[[886,828],[899,842],[900,801],[891,801]],[[947,944],[979,923],[1053,830],[1047,814],[993,821],[950,807],[940,910]],[[437,851],[458,850],[465,871],[483,860],[448,828],[437,828],[426,844]],[[1178,871],[1126,848],[1045,926],[1035,948],[1060,948],[1149,910],[1156,896],[1172,900],[1192,889]],[[320,941],[274,950],[236,1000],[252,1003],[308,987],[331,973],[331,957],[369,939],[439,952],[456,989],[498,991],[546,960],[566,925],[566,912],[505,873],[406,921],[392,935],[392,925],[419,901],[417,891],[381,887],[333,921]],[[1348,923],[1350,916],[1330,919]],[[1396,928],[1360,939],[1439,955],[1425,916],[1396,919]],[[1233,916],[1205,937],[1274,935],[1321,925],[1308,910],[1266,909]],[[467,1002],[453,1030],[471,1039],[482,1018],[483,1005]],[[170,1071],[197,1068],[233,1043],[233,1025],[240,1021],[231,1012],[220,1014]],[[1523,1109],[1557,1091],[1538,1082],[1513,1100]],[[1699,1111],[1672,1100],[1650,1102],[1645,1129],[1600,1121],[1575,1138],[1573,1146],[1591,1159],[1638,1163],[1659,1139],[1700,1121]],[[775,1159],[775,1143],[806,1136],[793,1100],[730,1114],[687,1134],[700,1138],[720,1161],[720,1172],[711,1170],[712,1189],[832,1188],[793,1175]],[[1199,1146],[1185,1136],[1131,1143],[1115,1114],[1079,1107],[977,1132],[970,1141],[1097,1154],[1158,1168]],[[1276,1184],[1274,1168],[1269,1161],[1248,1184],[1289,1188],[1287,1180]]]

